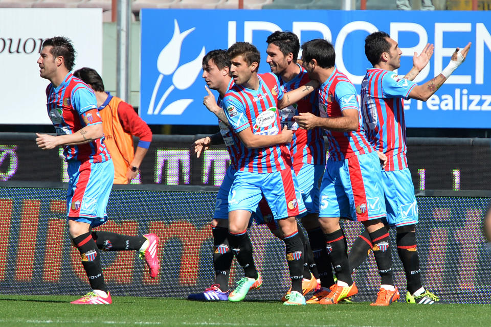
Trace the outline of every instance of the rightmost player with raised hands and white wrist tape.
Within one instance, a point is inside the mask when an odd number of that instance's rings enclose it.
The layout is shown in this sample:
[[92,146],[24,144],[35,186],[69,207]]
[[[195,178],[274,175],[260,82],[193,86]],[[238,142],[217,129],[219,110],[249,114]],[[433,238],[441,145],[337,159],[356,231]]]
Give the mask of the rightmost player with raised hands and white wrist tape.
[[[419,65],[414,61],[410,73],[403,77],[392,72],[400,67],[402,51],[397,42],[381,31],[365,39],[365,54],[373,68],[367,69],[362,82],[361,107],[370,144],[387,156],[387,164],[382,172],[387,223],[390,227],[396,227],[397,253],[406,273],[408,303],[434,304],[441,301],[421,284],[415,232],[418,207],[406,157],[403,99],[428,100],[464,61],[470,46],[471,43],[468,43],[462,50],[457,48],[441,74],[425,84],[417,85],[412,80],[428,63],[433,53],[432,46],[427,45],[423,50],[423,55],[427,53],[426,60]],[[416,55],[414,60],[418,60]],[[355,241],[356,251],[366,255],[372,247],[367,241],[366,236]]]

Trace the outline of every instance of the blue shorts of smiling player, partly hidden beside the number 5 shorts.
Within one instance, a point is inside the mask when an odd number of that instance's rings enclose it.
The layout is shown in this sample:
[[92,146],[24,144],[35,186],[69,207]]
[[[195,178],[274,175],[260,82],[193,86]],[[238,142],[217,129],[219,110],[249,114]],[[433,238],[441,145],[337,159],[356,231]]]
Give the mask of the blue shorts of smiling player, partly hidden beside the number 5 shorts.
[[298,188],[309,214],[319,213],[319,190],[325,168],[325,165],[312,165],[304,162],[293,166],[297,175]]

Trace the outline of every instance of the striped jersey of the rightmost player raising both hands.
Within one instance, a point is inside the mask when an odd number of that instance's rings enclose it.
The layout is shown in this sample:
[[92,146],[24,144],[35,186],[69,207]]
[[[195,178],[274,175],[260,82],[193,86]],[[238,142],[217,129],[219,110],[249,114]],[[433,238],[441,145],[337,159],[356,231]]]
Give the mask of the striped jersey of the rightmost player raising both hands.
[[387,156],[386,171],[408,167],[404,101],[417,85],[384,69],[370,68],[361,86],[363,123],[371,145]]

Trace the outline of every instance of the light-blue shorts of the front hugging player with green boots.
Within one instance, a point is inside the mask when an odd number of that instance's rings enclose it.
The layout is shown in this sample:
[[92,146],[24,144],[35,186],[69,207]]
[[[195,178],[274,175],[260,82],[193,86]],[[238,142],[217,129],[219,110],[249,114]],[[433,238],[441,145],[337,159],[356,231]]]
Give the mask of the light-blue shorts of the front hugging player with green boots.
[[262,174],[237,171],[229,193],[229,212],[253,213],[263,196],[274,219],[297,217],[306,212],[297,178],[290,168]]

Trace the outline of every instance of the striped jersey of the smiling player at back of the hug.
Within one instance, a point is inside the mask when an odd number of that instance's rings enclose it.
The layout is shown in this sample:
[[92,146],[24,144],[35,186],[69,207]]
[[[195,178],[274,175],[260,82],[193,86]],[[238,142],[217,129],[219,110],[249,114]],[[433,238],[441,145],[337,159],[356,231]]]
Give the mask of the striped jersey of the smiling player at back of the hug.
[[[307,71],[299,64],[297,65],[300,68],[300,74],[292,80],[285,82],[279,77],[284,92],[297,89],[310,81]],[[302,129],[298,127],[298,124],[293,119],[293,116],[298,115],[299,112],[311,112],[318,116],[318,102],[317,92],[314,91],[297,103],[280,110],[281,126],[286,125],[288,129],[294,131],[290,145],[290,154],[292,155],[293,162],[303,162],[304,164],[313,165],[326,164],[326,148],[322,128],[311,130]]]

